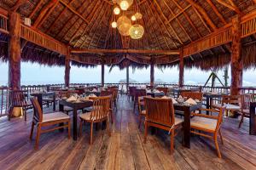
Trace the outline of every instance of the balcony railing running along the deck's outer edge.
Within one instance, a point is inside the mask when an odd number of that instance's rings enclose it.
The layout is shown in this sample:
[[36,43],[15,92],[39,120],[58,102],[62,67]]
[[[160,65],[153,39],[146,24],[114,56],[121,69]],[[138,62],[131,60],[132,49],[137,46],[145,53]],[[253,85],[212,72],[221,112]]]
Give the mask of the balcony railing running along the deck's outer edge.
[[[119,93],[125,94],[127,93],[126,83],[105,83],[107,86],[118,86]],[[131,82],[129,86],[134,86],[138,88],[146,88],[149,85],[148,83],[137,83]],[[175,83],[158,83],[155,84],[160,87],[166,88],[177,88],[178,85]],[[70,88],[75,87],[90,87],[90,86],[101,86],[101,83],[72,83]],[[21,86],[22,90],[26,91],[27,99],[29,99],[29,94],[31,94],[34,90],[44,90],[44,91],[52,91],[56,88],[65,88],[64,84],[47,84],[47,85],[27,85]],[[198,89],[202,92],[216,92],[219,94],[230,94],[230,87],[202,87],[197,85],[184,85],[183,88],[186,89]],[[241,88],[241,94],[256,94],[256,88]],[[219,102],[219,101],[218,101]],[[7,116],[9,111],[9,88],[8,87],[0,87],[0,117]]]

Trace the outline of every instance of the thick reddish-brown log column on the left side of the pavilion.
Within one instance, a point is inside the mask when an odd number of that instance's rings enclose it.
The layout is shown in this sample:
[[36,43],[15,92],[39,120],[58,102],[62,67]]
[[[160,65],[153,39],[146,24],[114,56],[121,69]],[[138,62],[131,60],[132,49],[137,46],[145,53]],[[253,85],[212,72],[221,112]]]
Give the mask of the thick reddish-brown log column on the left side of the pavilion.
[[9,88],[20,89],[20,14],[9,12]]

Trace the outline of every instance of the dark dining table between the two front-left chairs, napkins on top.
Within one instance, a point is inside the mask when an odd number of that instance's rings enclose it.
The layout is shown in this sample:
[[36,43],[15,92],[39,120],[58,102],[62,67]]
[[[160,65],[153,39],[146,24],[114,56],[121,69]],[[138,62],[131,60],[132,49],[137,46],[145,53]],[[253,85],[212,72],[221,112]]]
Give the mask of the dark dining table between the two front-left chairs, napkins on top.
[[73,140],[78,139],[78,110],[82,110],[86,107],[93,105],[93,102],[90,100],[80,101],[80,102],[70,102],[65,99],[59,101],[59,110],[64,111],[64,106],[73,108]]

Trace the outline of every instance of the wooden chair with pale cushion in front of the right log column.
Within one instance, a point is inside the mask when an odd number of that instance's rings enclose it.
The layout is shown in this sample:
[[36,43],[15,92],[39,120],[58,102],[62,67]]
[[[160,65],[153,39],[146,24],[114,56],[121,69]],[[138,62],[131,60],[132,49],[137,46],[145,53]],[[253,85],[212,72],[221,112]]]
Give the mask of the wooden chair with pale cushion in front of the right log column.
[[[225,107],[226,115],[234,115],[234,111],[241,110],[241,95],[223,95],[221,104],[212,105],[212,108]],[[230,114],[229,114],[230,113]]]

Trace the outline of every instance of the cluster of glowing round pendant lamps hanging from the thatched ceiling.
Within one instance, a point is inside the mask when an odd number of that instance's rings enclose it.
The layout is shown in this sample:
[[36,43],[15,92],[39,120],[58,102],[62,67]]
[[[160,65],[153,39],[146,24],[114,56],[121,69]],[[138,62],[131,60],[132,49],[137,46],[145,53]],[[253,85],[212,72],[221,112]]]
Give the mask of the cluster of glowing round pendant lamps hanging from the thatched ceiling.
[[[119,7],[116,6],[113,8],[113,14],[118,15],[120,14],[120,9],[126,11],[129,7],[131,7],[133,0],[116,0],[116,3],[119,4]],[[143,15],[138,12],[133,14],[131,19],[129,19],[126,15],[122,15],[117,21],[115,21],[114,17],[114,21],[111,23],[111,26],[113,28],[117,28],[122,36],[130,36],[132,39],[140,39],[143,37],[144,28],[137,23],[132,25],[132,22],[141,20],[142,18]]]

